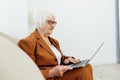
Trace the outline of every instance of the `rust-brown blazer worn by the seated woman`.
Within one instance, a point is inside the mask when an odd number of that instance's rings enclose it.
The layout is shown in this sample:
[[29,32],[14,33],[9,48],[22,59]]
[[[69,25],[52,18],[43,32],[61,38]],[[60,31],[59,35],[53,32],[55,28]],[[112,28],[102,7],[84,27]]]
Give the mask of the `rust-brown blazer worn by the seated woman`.
[[[64,56],[60,50],[60,46],[57,40],[49,36],[50,42],[58,49],[61,53],[61,64],[63,64],[64,59],[67,56]],[[19,41],[19,47],[22,48],[38,65],[39,69],[43,73],[44,77],[47,79],[49,70],[58,65],[58,61],[50,49],[50,47],[45,43],[36,29],[31,35],[25,39]]]

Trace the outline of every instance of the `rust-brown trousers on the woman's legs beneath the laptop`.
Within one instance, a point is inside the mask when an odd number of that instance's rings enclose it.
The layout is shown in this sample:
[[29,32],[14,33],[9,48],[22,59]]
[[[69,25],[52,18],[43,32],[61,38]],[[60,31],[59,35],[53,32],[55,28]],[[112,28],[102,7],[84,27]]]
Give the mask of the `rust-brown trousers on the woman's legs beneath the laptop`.
[[93,72],[90,64],[85,67],[69,70],[62,77],[52,78],[50,80],[93,80]]

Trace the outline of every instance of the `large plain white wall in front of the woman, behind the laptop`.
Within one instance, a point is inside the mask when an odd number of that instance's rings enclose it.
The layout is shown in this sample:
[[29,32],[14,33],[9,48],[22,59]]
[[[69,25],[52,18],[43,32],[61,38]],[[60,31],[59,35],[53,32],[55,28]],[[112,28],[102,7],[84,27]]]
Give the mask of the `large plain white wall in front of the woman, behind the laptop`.
[[115,0],[29,1],[40,10],[47,9],[56,15],[58,24],[53,36],[59,40],[64,53],[86,59],[104,41],[91,63],[116,63]]

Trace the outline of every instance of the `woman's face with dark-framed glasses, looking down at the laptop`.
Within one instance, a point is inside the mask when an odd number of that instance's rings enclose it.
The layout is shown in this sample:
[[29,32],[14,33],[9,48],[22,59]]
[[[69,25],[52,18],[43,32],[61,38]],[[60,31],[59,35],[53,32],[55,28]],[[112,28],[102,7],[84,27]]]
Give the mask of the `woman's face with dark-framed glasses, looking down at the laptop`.
[[45,33],[48,35],[52,34],[55,25],[56,25],[55,18],[54,17],[48,18],[44,26]]

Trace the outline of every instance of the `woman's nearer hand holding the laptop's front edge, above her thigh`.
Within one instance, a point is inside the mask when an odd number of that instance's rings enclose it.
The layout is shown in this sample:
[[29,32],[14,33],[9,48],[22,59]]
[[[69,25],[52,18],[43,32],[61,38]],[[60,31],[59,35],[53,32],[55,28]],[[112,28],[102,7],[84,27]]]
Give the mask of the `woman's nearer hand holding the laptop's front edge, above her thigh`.
[[72,69],[70,66],[57,65],[49,70],[49,77],[61,77],[64,72]]

